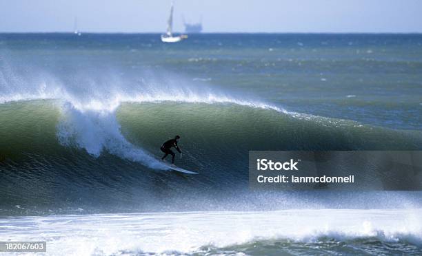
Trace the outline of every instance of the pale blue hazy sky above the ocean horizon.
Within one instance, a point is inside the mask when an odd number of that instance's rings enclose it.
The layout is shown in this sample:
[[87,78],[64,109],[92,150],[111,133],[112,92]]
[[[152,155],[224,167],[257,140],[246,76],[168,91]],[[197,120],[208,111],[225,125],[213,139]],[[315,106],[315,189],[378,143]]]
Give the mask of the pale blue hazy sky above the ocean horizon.
[[[0,32],[163,32],[171,0],[0,0]],[[175,0],[174,30],[422,32],[419,0]]]

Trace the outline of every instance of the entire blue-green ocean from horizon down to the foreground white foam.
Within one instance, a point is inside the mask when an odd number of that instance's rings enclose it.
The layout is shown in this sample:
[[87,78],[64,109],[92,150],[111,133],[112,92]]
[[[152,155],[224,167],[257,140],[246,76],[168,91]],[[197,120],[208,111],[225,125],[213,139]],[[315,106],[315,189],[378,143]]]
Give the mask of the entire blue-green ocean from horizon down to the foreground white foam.
[[[421,150],[421,128],[421,34],[0,34],[0,241],[420,255],[421,192],[251,191],[248,151]],[[175,135],[199,175],[157,160]]]

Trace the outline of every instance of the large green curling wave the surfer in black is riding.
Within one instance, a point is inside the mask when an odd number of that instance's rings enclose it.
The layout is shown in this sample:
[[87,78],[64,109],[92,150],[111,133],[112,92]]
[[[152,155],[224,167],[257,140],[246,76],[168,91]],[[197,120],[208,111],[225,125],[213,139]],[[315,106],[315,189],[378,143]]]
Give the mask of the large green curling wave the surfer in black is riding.
[[[221,193],[231,204],[236,199],[230,194],[245,192],[250,149],[422,147],[419,131],[243,103],[154,100],[121,103],[111,111],[78,109],[63,100],[5,103],[0,106],[0,153],[6,158],[1,162],[1,196],[8,206],[4,213],[34,211],[28,206],[103,211],[110,202],[119,202],[116,211],[128,206],[163,210],[155,200],[173,201],[165,203],[169,209],[202,209]],[[174,134],[181,135],[184,152],[177,164],[201,175],[185,177],[162,168],[159,146]]]

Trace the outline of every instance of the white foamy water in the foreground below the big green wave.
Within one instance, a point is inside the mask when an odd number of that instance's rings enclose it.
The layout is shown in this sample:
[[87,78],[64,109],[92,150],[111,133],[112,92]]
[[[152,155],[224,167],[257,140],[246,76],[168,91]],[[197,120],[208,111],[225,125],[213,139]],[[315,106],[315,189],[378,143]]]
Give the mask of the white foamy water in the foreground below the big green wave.
[[[0,222],[57,255],[420,255],[420,210],[55,215]],[[98,229],[98,226],[101,229]],[[78,246],[75,246],[78,244]]]

